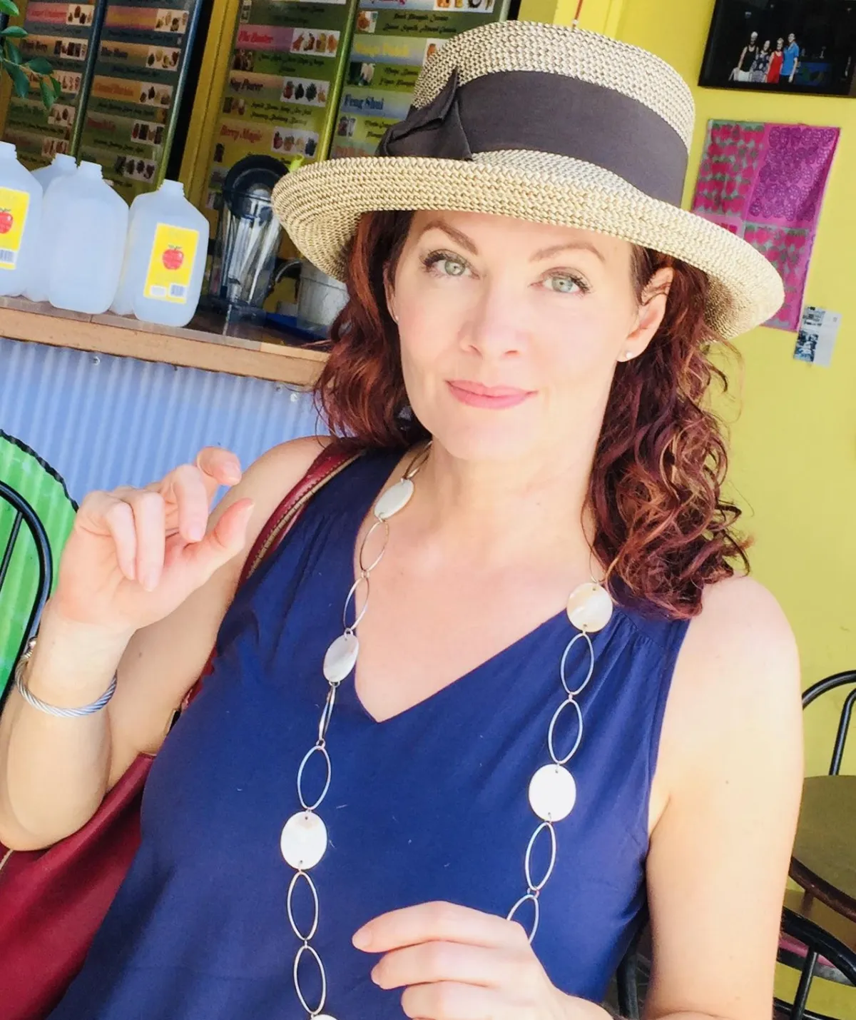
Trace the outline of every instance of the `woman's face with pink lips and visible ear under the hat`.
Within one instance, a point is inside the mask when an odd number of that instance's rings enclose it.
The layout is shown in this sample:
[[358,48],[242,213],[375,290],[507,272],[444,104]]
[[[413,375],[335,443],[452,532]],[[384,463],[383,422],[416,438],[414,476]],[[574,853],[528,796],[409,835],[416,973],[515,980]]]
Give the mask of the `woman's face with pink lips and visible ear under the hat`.
[[417,212],[387,299],[419,420],[468,460],[593,448],[616,365],[647,347],[672,280],[659,270],[640,305],[632,257],[590,231]]

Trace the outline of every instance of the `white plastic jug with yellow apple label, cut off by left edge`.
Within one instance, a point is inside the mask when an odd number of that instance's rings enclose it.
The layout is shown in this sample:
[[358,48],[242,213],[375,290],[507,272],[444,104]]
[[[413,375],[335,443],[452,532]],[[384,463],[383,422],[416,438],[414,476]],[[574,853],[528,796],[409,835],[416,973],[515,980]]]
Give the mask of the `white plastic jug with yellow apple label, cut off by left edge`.
[[23,294],[35,261],[42,218],[42,186],[0,142],[0,295]]

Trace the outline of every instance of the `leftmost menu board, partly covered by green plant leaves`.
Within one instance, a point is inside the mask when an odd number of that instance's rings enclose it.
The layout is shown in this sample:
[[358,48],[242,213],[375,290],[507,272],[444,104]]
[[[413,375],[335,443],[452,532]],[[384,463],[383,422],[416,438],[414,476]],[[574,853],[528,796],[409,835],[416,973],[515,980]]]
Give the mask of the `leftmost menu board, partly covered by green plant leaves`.
[[24,60],[45,57],[62,86],[62,96],[48,112],[31,74],[26,99],[12,96],[3,140],[17,146],[18,157],[31,169],[45,166],[56,153],[74,151],[79,99],[84,95],[96,5],[33,0],[24,11],[26,39],[14,40]]

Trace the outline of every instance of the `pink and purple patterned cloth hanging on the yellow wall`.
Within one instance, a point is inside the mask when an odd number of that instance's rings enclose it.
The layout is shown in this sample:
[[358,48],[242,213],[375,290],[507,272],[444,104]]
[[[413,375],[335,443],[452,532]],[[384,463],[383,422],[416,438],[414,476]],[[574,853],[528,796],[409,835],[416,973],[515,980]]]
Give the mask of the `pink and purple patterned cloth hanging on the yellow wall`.
[[763,252],[785,280],[766,323],[798,329],[838,128],[709,120],[693,212]]

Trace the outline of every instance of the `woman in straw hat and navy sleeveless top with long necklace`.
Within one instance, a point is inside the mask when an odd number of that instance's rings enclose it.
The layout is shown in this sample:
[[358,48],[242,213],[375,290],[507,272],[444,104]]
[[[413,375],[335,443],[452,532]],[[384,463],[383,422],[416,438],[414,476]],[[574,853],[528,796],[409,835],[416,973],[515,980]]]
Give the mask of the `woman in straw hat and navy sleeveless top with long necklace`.
[[[769,1009],[797,656],[704,401],[714,329],[782,287],[679,208],[691,132],[657,58],[510,22],[446,43],[378,157],[280,184],[349,285],[318,392],[367,449],[236,596],[327,441],[82,506],[0,835],[50,844],[158,756],[55,1018],[593,1020],[646,902],[653,1016]],[[20,697],[97,705],[116,668],[106,712]]]

